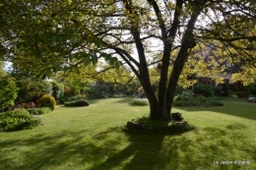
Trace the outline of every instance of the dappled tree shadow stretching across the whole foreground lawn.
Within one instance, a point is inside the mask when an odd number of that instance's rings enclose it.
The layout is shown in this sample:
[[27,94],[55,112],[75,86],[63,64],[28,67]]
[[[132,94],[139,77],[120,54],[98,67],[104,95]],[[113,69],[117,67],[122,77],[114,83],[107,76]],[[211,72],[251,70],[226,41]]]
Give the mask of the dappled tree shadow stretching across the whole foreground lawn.
[[[237,126],[246,128],[230,124],[223,129],[165,134],[113,127],[91,135],[85,131],[37,134],[0,142],[0,169],[239,169],[242,165],[213,164],[215,160],[242,159],[248,159],[251,164],[246,166],[254,169],[256,146],[248,145],[243,134],[233,133]],[[18,157],[12,157],[14,153]]]

